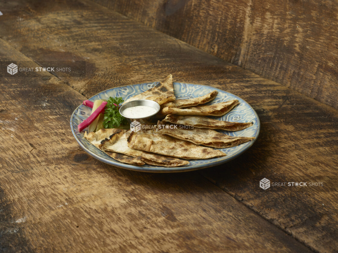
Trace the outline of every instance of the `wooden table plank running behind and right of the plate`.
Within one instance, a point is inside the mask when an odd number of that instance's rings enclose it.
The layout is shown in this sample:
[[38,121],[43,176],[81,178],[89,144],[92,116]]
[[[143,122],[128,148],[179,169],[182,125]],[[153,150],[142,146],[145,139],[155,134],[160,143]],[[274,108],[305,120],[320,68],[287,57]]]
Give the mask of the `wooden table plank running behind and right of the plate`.
[[[336,110],[95,4],[20,6],[8,9],[2,38],[37,62],[86,60],[86,78],[61,78],[87,97],[172,73],[175,81],[212,85],[245,99],[261,119],[259,139],[240,159],[203,175],[221,188],[227,182],[224,190],[312,249],[337,248]],[[324,187],[264,191],[258,187],[263,177],[323,180]]]

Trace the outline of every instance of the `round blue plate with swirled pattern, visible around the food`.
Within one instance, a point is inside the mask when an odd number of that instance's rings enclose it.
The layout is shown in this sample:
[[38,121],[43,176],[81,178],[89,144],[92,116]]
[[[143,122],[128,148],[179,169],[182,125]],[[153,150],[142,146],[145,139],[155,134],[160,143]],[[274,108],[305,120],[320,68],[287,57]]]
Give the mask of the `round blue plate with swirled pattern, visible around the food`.
[[[105,91],[102,91],[95,96],[92,96],[89,100],[93,101],[97,99],[108,99],[110,96],[112,97],[123,97],[124,100],[129,99],[136,94],[142,93],[146,91],[159,82],[154,83],[143,83],[143,84],[134,84],[134,85],[127,85],[121,86],[116,88],[111,88]],[[227,114],[223,115],[222,117],[213,117],[219,120],[226,120],[226,121],[238,121],[238,122],[253,122],[252,126],[249,126],[246,129],[241,131],[231,132],[231,131],[221,131],[224,134],[230,136],[246,136],[246,137],[255,137],[257,140],[259,130],[260,130],[260,122],[257,113],[255,112],[252,107],[246,103],[240,97],[206,85],[198,85],[198,84],[187,84],[187,83],[175,83],[174,82],[174,91],[176,99],[190,99],[194,97],[203,96],[213,90],[218,91],[217,97],[209,102],[208,104],[216,104],[228,100],[238,99],[240,104],[236,106],[233,110],[228,112]],[[255,140],[249,141],[243,144],[240,144],[236,147],[230,148],[220,148],[221,151],[226,153],[225,157],[220,158],[212,158],[212,159],[204,159],[204,160],[189,160],[190,164],[186,166],[180,167],[158,167],[152,165],[143,165],[143,166],[135,166],[130,164],[121,163],[119,161],[114,160],[94,145],[92,145],[88,140],[83,137],[84,131],[88,132],[88,128],[84,129],[81,133],[77,130],[77,125],[81,123],[84,119],[86,119],[92,112],[92,109],[80,105],[78,106],[75,111],[73,112],[70,118],[70,127],[72,129],[72,133],[79,143],[81,148],[90,154],[92,157],[100,160],[101,162],[114,165],[116,167],[129,169],[129,170],[137,170],[137,171],[146,171],[146,172],[181,172],[181,171],[190,171],[196,169],[202,169],[207,167],[216,166],[225,162],[228,162],[236,157],[238,157],[241,153],[243,153],[246,149],[254,144]]]

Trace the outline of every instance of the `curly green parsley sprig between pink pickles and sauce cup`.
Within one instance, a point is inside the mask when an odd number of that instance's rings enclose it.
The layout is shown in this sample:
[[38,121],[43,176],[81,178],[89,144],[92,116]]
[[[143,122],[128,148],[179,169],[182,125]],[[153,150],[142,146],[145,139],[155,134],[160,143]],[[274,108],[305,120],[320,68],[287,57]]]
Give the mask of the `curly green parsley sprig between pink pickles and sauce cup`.
[[118,105],[123,103],[122,97],[109,97],[107,106],[104,110],[103,126],[104,128],[117,128],[120,125],[128,124],[128,121],[119,112]]

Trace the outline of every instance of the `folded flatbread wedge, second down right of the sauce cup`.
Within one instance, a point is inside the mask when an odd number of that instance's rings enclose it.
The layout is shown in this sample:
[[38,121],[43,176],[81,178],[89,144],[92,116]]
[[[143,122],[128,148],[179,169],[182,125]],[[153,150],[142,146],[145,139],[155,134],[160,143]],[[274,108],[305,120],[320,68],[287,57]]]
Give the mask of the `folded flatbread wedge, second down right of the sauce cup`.
[[225,113],[229,112],[236,105],[238,105],[238,100],[231,100],[227,102],[221,102],[214,105],[200,105],[192,106],[188,108],[173,108],[173,107],[164,107],[162,109],[163,114],[177,114],[177,115],[201,115],[201,116],[222,116]]

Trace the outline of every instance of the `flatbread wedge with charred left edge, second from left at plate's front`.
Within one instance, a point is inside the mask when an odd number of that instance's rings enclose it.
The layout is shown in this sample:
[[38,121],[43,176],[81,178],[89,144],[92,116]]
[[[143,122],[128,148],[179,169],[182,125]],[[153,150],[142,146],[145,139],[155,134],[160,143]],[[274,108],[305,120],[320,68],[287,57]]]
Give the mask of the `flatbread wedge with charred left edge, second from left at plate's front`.
[[126,154],[128,156],[139,157],[143,162],[150,165],[178,167],[189,164],[189,162],[185,160],[129,148],[127,144],[127,139],[130,132],[131,131],[129,130],[122,135],[113,135],[111,136],[111,138],[106,138],[101,141],[100,147],[107,151],[113,151]]

